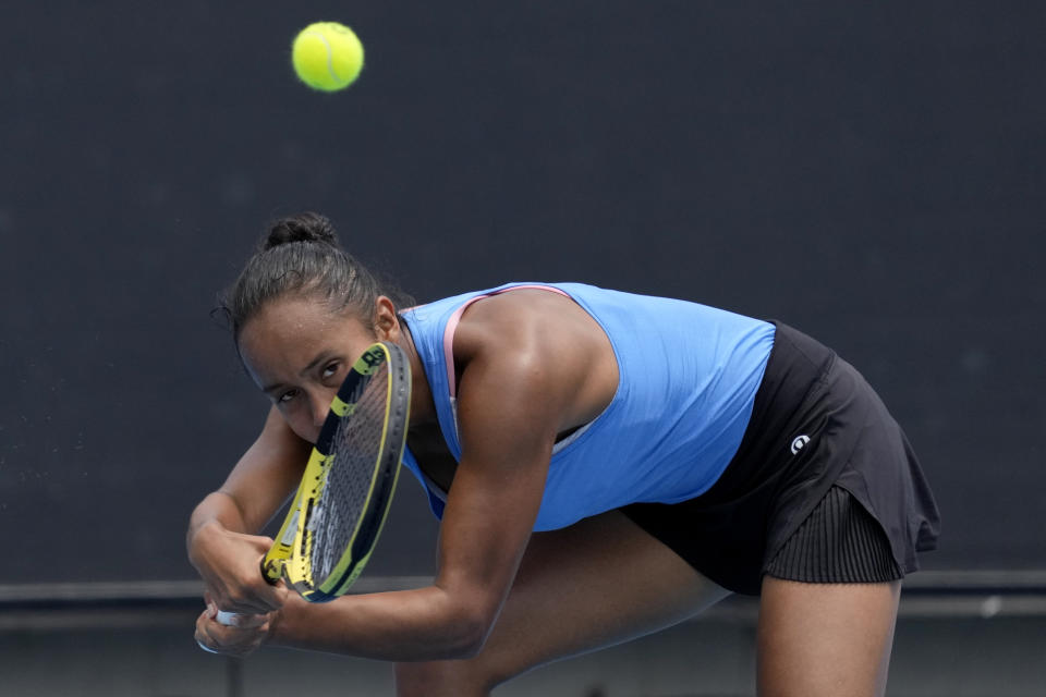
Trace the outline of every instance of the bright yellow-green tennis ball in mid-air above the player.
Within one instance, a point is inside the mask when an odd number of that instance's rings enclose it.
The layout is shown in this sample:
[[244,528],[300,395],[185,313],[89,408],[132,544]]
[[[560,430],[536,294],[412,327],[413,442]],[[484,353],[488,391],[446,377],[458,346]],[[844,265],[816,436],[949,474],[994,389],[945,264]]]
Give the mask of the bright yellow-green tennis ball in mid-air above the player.
[[294,37],[291,62],[313,89],[337,91],[351,85],[363,69],[363,45],[342,24],[316,22]]

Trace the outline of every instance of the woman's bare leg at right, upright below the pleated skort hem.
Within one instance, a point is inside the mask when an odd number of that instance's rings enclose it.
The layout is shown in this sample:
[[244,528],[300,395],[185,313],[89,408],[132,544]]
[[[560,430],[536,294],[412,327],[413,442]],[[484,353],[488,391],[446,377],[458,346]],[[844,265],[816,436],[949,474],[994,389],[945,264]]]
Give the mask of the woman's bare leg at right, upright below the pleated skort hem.
[[805,584],[765,576],[761,697],[881,697],[901,582]]

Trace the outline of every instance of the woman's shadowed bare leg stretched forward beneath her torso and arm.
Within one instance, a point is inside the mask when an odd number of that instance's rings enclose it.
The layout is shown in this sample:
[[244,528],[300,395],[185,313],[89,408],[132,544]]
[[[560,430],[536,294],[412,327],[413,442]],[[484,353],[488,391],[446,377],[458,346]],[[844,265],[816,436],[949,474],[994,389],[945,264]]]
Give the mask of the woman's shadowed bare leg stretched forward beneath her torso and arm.
[[656,632],[727,595],[618,512],[535,534],[483,651],[400,663],[397,694],[481,697],[531,668]]

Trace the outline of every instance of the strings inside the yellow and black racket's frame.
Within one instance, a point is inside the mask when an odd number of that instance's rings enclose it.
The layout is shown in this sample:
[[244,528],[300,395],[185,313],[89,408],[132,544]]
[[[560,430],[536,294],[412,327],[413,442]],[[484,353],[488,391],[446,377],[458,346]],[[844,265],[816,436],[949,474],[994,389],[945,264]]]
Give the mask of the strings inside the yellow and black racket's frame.
[[388,364],[382,364],[367,381],[352,415],[335,431],[323,493],[308,524],[314,536],[309,563],[314,584],[335,571],[367,505],[381,451],[387,391]]

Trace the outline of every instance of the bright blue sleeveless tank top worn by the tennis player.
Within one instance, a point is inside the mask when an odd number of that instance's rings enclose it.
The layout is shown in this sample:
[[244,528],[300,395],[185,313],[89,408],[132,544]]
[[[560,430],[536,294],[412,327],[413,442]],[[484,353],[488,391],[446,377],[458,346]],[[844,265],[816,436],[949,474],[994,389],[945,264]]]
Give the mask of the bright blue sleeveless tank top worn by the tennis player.
[[[571,297],[599,323],[613,346],[619,382],[598,417],[556,444],[534,529],[565,527],[629,503],[677,503],[708,490],[741,444],[774,326],[696,303],[580,283],[510,283],[403,313],[454,458],[461,460],[451,354],[458,319],[471,302],[535,286]],[[441,517],[446,493],[410,449],[403,464]]]

